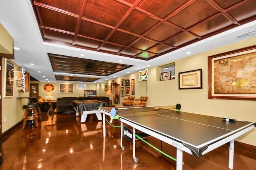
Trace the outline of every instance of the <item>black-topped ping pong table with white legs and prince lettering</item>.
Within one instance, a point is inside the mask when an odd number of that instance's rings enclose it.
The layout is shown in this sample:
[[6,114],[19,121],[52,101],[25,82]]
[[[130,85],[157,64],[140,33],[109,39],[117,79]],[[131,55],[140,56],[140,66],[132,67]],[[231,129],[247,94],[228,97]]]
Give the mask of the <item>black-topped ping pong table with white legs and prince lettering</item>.
[[182,170],[183,151],[200,157],[226,143],[230,143],[228,168],[233,169],[234,139],[255,128],[255,122],[226,121],[222,117],[170,110],[170,106],[99,107],[103,113],[103,136],[106,137],[105,116],[132,127],[133,158],[135,157],[136,129],[176,147],[176,169]]

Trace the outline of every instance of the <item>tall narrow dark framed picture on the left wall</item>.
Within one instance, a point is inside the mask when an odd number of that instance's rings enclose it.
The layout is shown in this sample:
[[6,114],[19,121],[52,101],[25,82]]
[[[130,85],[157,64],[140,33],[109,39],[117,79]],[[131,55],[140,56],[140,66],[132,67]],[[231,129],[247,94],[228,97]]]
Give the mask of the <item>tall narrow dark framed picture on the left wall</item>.
[[5,59],[4,97],[14,96],[14,63]]

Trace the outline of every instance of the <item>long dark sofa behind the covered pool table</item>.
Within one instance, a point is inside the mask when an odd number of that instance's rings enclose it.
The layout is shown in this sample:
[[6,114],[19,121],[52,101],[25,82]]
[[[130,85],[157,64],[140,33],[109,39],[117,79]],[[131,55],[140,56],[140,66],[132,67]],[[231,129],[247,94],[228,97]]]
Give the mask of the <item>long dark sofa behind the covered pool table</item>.
[[71,106],[71,102],[73,100],[99,100],[109,103],[109,98],[105,96],[89,96],[89,97],[62,97],[57,98],[57,113],[59,114],[68,114],[68,113],[76,113],[73,106]]

